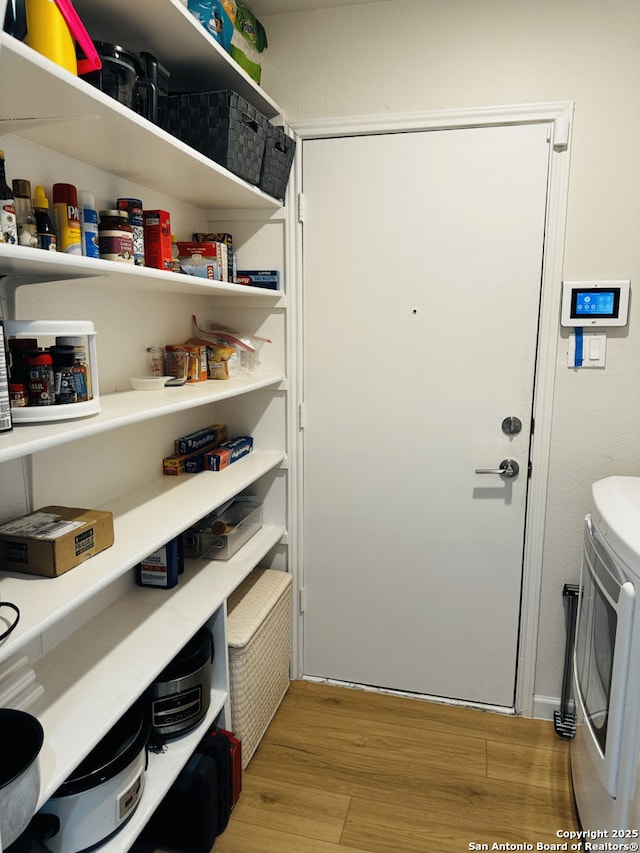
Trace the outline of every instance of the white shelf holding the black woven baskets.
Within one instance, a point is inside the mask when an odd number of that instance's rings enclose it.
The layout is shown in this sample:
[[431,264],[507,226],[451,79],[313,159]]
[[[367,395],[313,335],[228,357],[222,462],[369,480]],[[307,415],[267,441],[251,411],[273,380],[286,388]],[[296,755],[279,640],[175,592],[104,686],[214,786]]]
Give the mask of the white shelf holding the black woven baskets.
[[[135,4],[131,4],[135,5]],[[105,95],[81,77],[0,34],[0,133],[19,133],[105,172],[207,209],[276,210],[281,202]],[[126,157],[117,156],[126,140]]]

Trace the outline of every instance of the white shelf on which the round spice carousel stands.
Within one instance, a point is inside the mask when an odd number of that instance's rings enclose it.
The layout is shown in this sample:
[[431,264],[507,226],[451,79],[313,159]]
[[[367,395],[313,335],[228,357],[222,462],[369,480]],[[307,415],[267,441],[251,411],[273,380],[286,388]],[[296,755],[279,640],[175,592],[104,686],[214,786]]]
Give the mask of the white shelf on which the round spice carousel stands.
[[282,374],[264,373],[225,380],[210,379],[160,391],[102,394],[102,411],[96,415],[47,424],[16,424],[12,432],[0,437],[0,463],[163,415],[250,394],[283,381]]

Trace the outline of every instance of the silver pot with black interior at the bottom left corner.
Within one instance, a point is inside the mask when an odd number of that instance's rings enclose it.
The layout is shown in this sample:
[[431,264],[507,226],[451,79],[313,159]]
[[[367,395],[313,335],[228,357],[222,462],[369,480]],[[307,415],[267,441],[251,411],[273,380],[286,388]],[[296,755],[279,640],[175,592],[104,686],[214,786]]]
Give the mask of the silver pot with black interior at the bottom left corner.
[[40,795],[39,721],[25,711],[0,708],[0,836],[6,848],[27,828]]

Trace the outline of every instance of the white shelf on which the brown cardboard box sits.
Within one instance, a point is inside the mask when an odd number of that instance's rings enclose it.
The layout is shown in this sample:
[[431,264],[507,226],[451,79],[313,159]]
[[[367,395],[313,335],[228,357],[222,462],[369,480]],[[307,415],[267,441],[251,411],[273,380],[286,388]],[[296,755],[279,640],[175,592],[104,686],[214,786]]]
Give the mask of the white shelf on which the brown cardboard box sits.
[[[158,477],[97,507],[114,515],[115,541],[111,548],[57,578],[3,572],[0,599],[18,605],[21,617],[13,633],[0,643],[0,661],[73,613],[157,548],[284,460],[281,451],[254,451],[224,471]],[[243,550],[243,553],[250,552]],[[192,624],[196,623],[194,618]],[[119,631],[119,625],[115,622],[111,626],[112,640],[113,630]],[[81,653],[81,649],[74,649]],[[121,709],[126,707],[123,704]]]

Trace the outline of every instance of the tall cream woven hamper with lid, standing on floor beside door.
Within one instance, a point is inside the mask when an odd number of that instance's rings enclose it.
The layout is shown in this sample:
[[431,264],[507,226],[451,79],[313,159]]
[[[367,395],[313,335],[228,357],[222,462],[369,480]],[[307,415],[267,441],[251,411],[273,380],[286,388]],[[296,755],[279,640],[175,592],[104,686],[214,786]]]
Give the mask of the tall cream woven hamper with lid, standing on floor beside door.
[[244,770],[289,688],[291,575],[254,569],[227,613],[231,722]]

